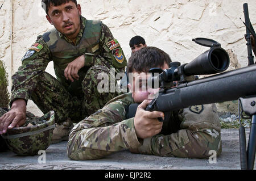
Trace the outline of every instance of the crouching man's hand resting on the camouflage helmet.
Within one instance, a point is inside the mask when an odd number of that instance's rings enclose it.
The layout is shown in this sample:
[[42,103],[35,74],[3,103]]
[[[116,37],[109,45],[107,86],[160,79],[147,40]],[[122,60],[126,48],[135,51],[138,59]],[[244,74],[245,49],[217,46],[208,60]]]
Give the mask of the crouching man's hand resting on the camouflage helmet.
[[11,110],[0,117],[0,134],[7,132],[7,129],[22,126],[26,121],[26,101],[17,99],[13,102]]

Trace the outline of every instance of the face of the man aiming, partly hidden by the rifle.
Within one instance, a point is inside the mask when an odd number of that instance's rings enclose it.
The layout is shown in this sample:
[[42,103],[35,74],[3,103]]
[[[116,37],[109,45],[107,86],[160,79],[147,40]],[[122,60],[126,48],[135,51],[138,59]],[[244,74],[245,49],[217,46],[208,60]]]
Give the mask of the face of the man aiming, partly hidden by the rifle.
[[[168,69],[169,65],[164,63],[164,66],[160,68],[163,70]],[[153,99],[154,95],[158,93],[159,89],[152,89],[147,86],[147,78],[150,77],[150,74],[133,71],[133,77],[133,85],[129,83],[128,87],[132,92],[134,102],[142,103],[145,99]]]

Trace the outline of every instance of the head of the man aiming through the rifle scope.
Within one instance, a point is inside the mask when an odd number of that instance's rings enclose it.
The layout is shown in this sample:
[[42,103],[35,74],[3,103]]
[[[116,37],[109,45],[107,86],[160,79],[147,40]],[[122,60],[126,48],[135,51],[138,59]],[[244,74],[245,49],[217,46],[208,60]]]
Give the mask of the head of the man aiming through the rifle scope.
[[156,94],[159,90],[151,89],[147,85],[147,78],[150,76],[147,74],[148,71],[151,68],[168,69],[170,62],[170,56],[156,47],[144,47],[131,54],[127,65],[127,74],[129,75],[128,87],[136,103],[141,103],[145,99],[151,99],[151,95]]

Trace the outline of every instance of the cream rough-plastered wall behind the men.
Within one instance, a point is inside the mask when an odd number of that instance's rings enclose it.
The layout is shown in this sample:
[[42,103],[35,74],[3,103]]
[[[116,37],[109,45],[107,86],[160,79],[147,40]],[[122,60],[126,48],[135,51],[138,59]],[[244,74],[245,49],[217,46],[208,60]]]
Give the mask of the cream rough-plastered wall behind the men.
[[[0,6],[3,0],[0,0]],[[50,28],[41,0],[5,0],[0,10],[0,59],[9,77],[18,70],[36,37]],[[256,30],[255,0],[78,0],[82,15],[102,20],[129,58],[129,40],[141,35],[147,45],[163,49],[173,61],[192,61],[208,48],[195,44],[195,37],[208,37],[233,52],[242,67],[247,65],[243,3],[249,4],[250,20]],[[13,32],[13,36],[11,36]],[[47,71],[53,74],[52,64]],[[9,91],[11,87],[11,81]],[[42,114],[31,102],[28,110]]]

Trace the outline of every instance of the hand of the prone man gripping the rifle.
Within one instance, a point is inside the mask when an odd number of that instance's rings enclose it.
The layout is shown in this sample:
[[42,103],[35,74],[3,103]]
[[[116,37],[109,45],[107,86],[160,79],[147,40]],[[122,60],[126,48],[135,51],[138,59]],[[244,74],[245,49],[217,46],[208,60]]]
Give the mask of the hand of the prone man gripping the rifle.
[[144,100],[137,108],[134,117],[134,127],[138,138],[148,138],[160,133],[163,122],[158,121],[158,117],[163,117],[160,111],[146,111],[147,105],[151,100]]

